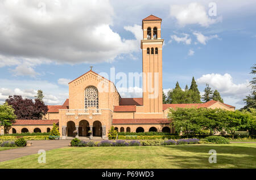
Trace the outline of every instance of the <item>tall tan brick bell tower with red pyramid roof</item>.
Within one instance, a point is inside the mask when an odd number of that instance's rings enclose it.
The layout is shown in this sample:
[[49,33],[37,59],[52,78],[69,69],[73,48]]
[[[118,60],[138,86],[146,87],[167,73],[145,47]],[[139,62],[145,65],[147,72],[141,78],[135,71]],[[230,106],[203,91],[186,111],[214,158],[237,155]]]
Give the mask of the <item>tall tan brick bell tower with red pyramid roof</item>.
[[146,113],[163,113],[162,19],[150,15],[142,20],[143,105]]

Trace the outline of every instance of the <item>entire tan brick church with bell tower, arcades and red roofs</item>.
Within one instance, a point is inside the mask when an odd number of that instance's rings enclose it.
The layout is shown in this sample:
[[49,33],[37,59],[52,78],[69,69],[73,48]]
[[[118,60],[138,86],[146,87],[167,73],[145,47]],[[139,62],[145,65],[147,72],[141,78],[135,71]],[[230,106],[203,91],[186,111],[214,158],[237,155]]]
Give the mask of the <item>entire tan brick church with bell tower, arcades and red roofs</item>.
[[[163,104],[162,19],[150,15],[142,20],[142,87],[141,98],[122,98],[115,84],[93,70],[69,83],[69,98],[63,105],[49,105],[42,120],[16,120],[9,133],[48,132],[53,123],[59,125],[61,139],[77,136],[108,138],[114,126],[118,132],[174,133],[167,119],[169,108],[222,108],[234,110],[218,101],[202,104]],[[170,77],[164,77],[170,78]],[[23,130],[23,131],[22,131]]]

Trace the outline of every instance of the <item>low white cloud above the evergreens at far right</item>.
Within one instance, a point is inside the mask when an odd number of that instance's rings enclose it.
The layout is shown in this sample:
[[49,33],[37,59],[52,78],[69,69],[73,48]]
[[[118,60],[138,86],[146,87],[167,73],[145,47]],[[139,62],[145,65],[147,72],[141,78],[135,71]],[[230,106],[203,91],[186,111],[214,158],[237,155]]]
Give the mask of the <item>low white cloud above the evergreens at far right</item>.
[[206,74],[197,79],[199,84],[208,83],[213,89],[217,89],[221,96],[242,99],[250,92],[249,82],[235,84],[230,74]]

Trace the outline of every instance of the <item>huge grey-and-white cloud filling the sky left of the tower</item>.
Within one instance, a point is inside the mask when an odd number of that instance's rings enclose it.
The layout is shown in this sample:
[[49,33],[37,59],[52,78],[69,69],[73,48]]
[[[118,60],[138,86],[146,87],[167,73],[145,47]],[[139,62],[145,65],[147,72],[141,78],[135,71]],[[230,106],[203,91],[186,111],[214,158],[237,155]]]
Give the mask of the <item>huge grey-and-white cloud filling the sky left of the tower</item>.
[[[110,28],[113,16],[113,8],[105,0],[2,1],[0,67],[35,58],[40,63],[112,62],[118,55],[137,52],[142,30],[137,31],[138,25],[125,27],[136,38],[126,40]],[[35,76],[35,66],[23,64],[13,73]]]

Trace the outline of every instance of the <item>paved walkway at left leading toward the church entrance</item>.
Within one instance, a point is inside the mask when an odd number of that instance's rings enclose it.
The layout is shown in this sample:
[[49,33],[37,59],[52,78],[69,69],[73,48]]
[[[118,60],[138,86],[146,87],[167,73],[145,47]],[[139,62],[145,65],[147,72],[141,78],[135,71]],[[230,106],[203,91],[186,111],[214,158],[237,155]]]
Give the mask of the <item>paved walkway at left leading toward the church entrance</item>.
[[8,149],[0,151],[0,162],[13,160],[14,158],[37,154],[40,149],[50,150],[68,147],[71,140],[29,140],[33,144],[30,147]]

